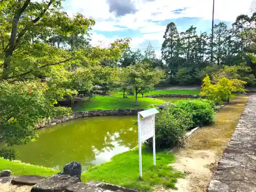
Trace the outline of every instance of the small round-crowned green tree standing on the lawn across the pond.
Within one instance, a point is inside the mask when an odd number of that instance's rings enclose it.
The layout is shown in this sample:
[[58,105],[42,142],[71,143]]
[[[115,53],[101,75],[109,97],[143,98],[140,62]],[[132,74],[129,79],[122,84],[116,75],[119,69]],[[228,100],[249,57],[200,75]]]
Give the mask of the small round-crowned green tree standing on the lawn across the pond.
[[164,77],[162,70],[151,68],[148,63],[138,63],[122,70],[126,74],[122,84],[134,90],[136,101],[139,93],[144,94],[154,89],[154,86]]

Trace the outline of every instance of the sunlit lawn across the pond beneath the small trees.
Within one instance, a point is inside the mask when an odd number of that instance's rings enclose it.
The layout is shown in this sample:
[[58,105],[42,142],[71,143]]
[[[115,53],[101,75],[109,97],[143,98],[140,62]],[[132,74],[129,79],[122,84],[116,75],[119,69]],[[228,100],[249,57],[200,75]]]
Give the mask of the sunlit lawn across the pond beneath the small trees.
[[[156,94],[199,94],[198,90],[155,90],[147,95]],[[146,109],[150,104],[160,105],[163,100],[142,97],[138,95],[138,101],[135,102],[135,96],[126,95],[128,98],[123,98],[123,93],[117,92],[113,96],[95,96],[91,101],[79,103],[73,109],[75,111],[90,111],[90,110],[112,110],[112,109]]]

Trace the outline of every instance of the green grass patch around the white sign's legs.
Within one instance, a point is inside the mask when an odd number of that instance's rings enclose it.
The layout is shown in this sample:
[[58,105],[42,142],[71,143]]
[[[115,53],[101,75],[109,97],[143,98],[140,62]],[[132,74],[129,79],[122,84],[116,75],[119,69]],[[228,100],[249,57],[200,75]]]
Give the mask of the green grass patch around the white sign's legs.
[[102,181],[141,191],[152,190],[154,185],[176,188],[177,178],[183,174],[176,172],[169,163],[175,161],[173,154],[158,152],[156,166],[153,166],[153,154],[142,151],[142,179],[139,179],[138,150],[114,156],[111,161],[91,167],[81,176],[83,182]]

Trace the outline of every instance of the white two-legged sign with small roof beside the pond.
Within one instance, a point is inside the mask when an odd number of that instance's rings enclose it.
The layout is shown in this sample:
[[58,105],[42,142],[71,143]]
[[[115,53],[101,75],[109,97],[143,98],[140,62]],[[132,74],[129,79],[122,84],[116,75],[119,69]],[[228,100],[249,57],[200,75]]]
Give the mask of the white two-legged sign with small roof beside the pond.
[[[155,115],[159,113],[155,108],[138,113],[138,140],[139,140],[139,176],[142,178],[141,144],[152,137],[153,139],[153,164],[156,165],[156,136]],[[142,119],[140,118],[142,116]]]

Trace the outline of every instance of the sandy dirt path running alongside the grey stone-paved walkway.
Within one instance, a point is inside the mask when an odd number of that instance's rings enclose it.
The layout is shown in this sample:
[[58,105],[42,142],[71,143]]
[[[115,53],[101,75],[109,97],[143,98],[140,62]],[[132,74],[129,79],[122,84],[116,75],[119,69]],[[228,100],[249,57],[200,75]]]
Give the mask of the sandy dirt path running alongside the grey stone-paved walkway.
[[[236,124],[244,110],[248,96],[233,99],[216,115],[216,122],[197,130],[187,141],[186,147],[176,152],[175,169],[185,172],[184,179],[178,179],[177,192],[203,192],[215,172],[218,161],[226,148]],[[159,191],[159,189],[157,190]],[[160,189],[166,191],[166,189]]]

